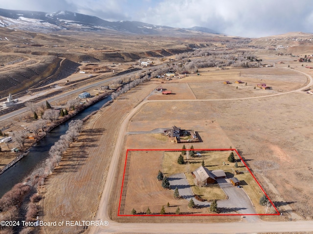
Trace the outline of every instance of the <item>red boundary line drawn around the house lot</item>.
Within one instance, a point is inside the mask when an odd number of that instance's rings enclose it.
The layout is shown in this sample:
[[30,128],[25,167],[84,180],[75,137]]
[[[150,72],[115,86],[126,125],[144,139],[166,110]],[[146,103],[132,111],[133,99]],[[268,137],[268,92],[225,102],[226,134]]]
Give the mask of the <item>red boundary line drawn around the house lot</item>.
[[[186,151],[189,151],[191,149],[185,149]],[[238,216],[238,215],[280,215],[279,211],[275,207],[274,203],[270,200],[268,194],[265,192],[265,190],[262,188],[259,181],[256,179],[252,171],[248,168],[246,165],[246,162],[244,159],[240,156],[237,149],[194,149],[195,151],[235,151],[240,160],[245,165],[246,169],[250,172],[255,182],[258,184],[260,189],[263,191],[263,193],[268,198],[268,201],[272,205],[272,207],[275,209],[277,213],[234,213],[234,214],[120,214],[120,208],[121,208],[121,201],[122,201],[122,193],[123,193],[123,187],[124,187],[124,179],[125,179],[125,172],[126,172],[126,164],[127,164],[127,158],[128,158],[128,152],[129,151],[181,151],[181,149],[127,149],[126,151],[126,159],[125,159],[125,166],[124,166],[124,173],[123,173],[123,181],[122,181],[122,187],[121,187],[121,193],[120,193],[120,199],[119,199],[119,205],[118,205],[118,213],[117,216]]]

